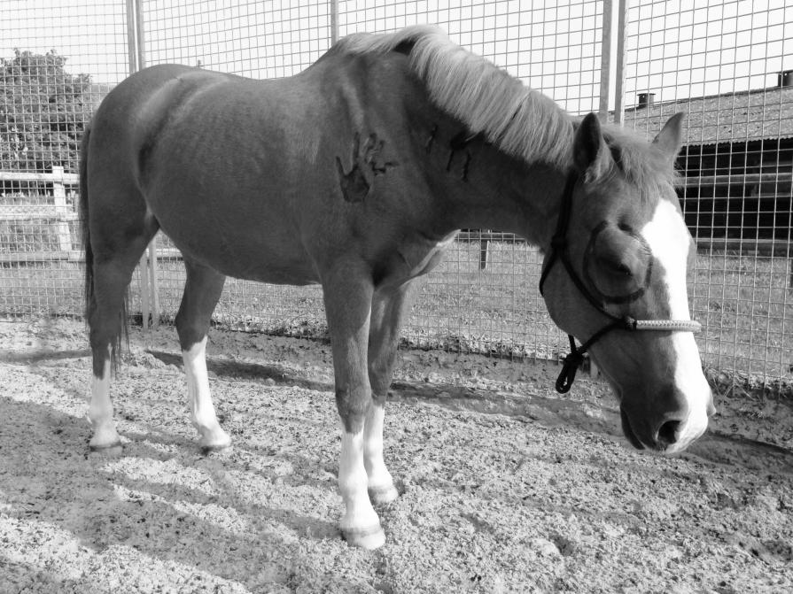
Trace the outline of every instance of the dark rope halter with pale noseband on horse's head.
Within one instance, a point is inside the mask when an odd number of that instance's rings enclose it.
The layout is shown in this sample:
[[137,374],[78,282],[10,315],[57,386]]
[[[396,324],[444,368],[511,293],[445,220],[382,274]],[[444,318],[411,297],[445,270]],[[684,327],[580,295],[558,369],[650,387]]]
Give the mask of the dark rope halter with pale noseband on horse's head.
[[592,304],[598,312],[606,316],[610,322],[603,326],[600,330],[595,332],[594,335],[589,337],[587,342],[576,347],[575,337],[567,335],[570,339],[570,354],[564,358],[562,364],[562,371],[556,379],[556,391],[560,394],[568,392],[575,381],[575,374],[578,371],[581,363],[584,362],[584,353],[589,348],[599,341],[603,336],[608,334],[611,330],[657,330],[664,332],[700,332],[702,325],[696,320],[635,320],[630,316],[619,318],[607,312],[602,303],[592,295],[592,292],[587,288],[587,285],[581,281],[579,275],[572,267],[570,261],[570,253],[567,251],[567,226],[570,223],[570,212],[572,208],[572,192],[575,189],[576,183],[579,181],[578,174],[571,172],[567,176],[567,181],[564,184],[564,194],[562,195],[562,206],[559,209],[559,219],[556,221],[556,233],[551,238],[550,254],[548,258],[548,265],[542,270],[540,274],[540,295],[542,295],[542,286],[548,278],[548,273],[551,266],[554,265],[556,259],[560,259],[567,274],[579,289],[579,292],[587,297],[587,301]]

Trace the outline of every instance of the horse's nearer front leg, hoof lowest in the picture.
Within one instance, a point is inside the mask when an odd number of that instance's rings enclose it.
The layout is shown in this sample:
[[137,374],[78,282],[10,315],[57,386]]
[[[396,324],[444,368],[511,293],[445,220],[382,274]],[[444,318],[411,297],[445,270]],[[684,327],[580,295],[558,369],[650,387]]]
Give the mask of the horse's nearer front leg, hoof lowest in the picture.
[[385,544],[385,532],[369,501],[363,463],[364,426],[371,403],[367,373],[370,274],[356,263],[336,266],[330,274],[323,275],[323,293],[342,428],[338,490],[345,513],[340,528],[348,543],[376,549]]

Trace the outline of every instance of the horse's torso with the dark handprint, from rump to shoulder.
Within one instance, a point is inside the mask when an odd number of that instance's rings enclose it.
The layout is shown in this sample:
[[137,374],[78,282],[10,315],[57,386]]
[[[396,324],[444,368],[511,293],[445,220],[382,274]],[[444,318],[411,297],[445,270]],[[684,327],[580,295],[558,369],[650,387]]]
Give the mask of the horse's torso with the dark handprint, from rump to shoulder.
[[387,276],[414,251],[416,267],[434,233],[414,233],[430,217],[404,121],[417,92],[406,65],[331,51],[272,81],[153,66],[97,113],[108,179],[134,181],[183,253],[224,274],[319,282],[349,255]]

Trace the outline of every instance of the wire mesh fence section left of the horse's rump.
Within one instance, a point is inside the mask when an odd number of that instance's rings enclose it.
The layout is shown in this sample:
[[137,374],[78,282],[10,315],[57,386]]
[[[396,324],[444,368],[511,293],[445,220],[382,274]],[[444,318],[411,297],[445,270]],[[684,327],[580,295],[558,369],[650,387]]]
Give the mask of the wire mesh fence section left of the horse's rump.
[[0,3],[0,311],[82,312],[82,130],[128,76],[126,4]]

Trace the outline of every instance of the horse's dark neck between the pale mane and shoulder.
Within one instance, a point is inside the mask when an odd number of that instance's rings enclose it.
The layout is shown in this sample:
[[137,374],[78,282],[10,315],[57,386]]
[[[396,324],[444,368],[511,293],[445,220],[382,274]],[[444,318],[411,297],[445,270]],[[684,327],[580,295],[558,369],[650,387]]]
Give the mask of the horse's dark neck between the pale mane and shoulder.
[[[565,172],[559,167],[527,164],[486,142],[483,135],[471,135],[463,121],[431,101],[424,84],[409,73],[408,58],[399,52],[377,58],[331,56],[325,64],[345,69],[348,86],[359,89],[346,92],[345,100],[362,122],[369,118],[367,101],[377,96],[388,107],[380,110],[380,117],[393,126],[393,136],[410,131],[415,166],[411,174],[423,170],[428,196],[406,199],[417,201],[413,211],[427,215],[421,223],[427,225],[428,235],[484,228],[515,233],[542,246],[549,241],[564,188]],[[389,100],[400,102],[399,109],[387,104]],[[407,169],[400,166],[399,171]],[[412,181],[406,187],[421,187]]]

